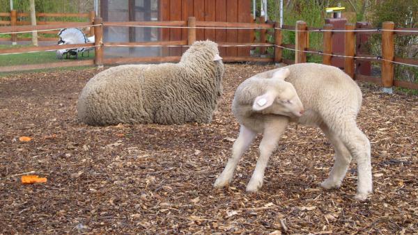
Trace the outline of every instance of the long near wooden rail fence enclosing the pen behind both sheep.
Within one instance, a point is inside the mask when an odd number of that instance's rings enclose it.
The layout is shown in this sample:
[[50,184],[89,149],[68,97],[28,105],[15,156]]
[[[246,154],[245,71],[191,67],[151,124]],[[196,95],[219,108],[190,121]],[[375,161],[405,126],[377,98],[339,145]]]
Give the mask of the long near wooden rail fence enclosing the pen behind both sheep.
[[[196,29],[200,27],[217,27],[217,28],[245,28],[261,30],[266,33],[267,29],[274,29],[274,43],[269,42],[249,42],[249,43],[231,43],[218,42],[219,47],[274,47],[273,57],[251,57],[251,56],[226,56],[224,62],[274,62],[274,63],[304,63],[307,61],[307,54],[319,54],[323,57],[323,63],[330,65],[332,56],[341,56],[344,58],[344,71],[353,79],[359,81],[368,81],[376,83],[384,88],[392,88],[392,86],[418,89],[418,83],[408,81],[398,81],[394,79],[394,63],[405,63],[413,66],[418,65],[418,60],[409,58],[398,58],[394,56],[394,36],[395,35],[416,35],[418,29],[396,29],[393,22],[385,22],[382,29],[367,29],[361,31],[355,29],[353,24],[346,24],[346,29],[332,30],[331,25],[325,25],[322,29],[308,27],[304,22],[297,22],[296,26],[283,26],[281,29],[278,24],[256,24],[256,23],[231,23],[231,22],[199,22],[196,18],[189,17],[187,21],[171,21],[171,22],[102,22],[100,17],[95,17],[94,22],[88,23],[66,23],[56,25],[40,25],[40,26],[6,26],[0,27],[0,33],[17,33],[19,31],[45,30],[69,27],[86,27],[95,25],[95,43],[77,44],[77,45],[61,45],[61,46],[45,46],[45,47],[25,47],[20,49],[0,49],[0,54],[16,53],[23,51],[45,51],[52,49],[68,49],[72,47],[95,47],[94,60],[81,60],[63,63],[48,63],[38,65],[16,65],[0,67],[0,72],[16,71],[16,70],[34,70],[45,67],[65,67],[75,65],[98,65],[118,64],[118,63],[157,63],[157,62],[177,62],[180,56],[153,56],[153,57],[124,57],[124,58],[104,58],[104,47],[187,47],[196,40]],[[103,27],[106,26],[173,26],[187,27],[187,40],[176,41],[160,41],[160,42],[102,42]],[[283,44],[282,33],[285,30],[295,31],[296,44]],[[309,48],[309,31],[323,33],[323,49]],[[335,33],[345,34],[345,53],[336,54],[332,52],[332,37]],[[382,56],[372,56],[364,54],[356,54],[355,51],[355,35],[356,34],[382,34]],[[266,37],[261,37],[266,38]],[[283,58],[283,50],[291,49],[295,51],[295,60]],[[382,63],[382,76],[364,76],[355,72],[356,60],[369,60]]]

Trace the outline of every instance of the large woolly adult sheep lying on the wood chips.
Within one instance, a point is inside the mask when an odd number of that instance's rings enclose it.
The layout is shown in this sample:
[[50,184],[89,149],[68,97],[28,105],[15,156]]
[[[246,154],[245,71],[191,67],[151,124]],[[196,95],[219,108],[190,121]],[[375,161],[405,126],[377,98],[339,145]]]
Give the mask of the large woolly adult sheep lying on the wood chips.
[[217,44],[197,41],[179,63],[121,65],[93,76],[79,95],[78,117],[91,125],[208,123],[223,75]]

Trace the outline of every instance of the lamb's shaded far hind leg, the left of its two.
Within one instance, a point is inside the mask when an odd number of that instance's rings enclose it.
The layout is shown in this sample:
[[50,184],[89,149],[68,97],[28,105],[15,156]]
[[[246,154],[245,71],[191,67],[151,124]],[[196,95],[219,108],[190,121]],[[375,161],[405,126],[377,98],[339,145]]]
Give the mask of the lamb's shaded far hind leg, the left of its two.
[[325,181],[320,184],[323,188],[339,188],[341,186],[341,182],[343,181],[344,177],[346,176],[348,167],[351,162],[351,154],[344,145],[343,141],[336,136],[334,132],[332,132],[325,124],[323,124],[320,129],[323,130],[325,136],[332,146],[335,149],[335,156],[334,156],[334,166],[330,172],[330,176],[325,179]]

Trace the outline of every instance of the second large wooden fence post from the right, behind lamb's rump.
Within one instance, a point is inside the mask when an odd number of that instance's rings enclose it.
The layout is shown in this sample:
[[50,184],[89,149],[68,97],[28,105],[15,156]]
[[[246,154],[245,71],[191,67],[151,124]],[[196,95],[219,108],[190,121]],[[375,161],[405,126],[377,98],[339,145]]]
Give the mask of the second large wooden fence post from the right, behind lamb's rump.
[[352,79],[355,79],[355,63],[353,58],[355,56],[355,25],[347,23],[346,30],[348,31],[344,33],[346,38],[344,55],[349,57],[344,58],[344,71]]

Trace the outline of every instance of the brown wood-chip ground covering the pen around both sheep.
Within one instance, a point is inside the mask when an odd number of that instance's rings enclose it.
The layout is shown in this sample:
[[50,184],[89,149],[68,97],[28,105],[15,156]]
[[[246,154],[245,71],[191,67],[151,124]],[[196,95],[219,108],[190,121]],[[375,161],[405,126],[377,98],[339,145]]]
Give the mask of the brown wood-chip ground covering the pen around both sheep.
[[[354,162],[341,188],[318,187],[333,149],[318,129],[295,124],[261,191],[245,192],[259,138],[229,188],[212,187],[238,134],[233,92],[270,68],[226,65],[213,122],[173,126],[77,122],[78,94],[95,69],[0,77],[0,234],[417,233],[418,97],[364,83],[358,124],[371,140],[370,200],[353,199]],[[47,183],[22,185],[31,171]]]

